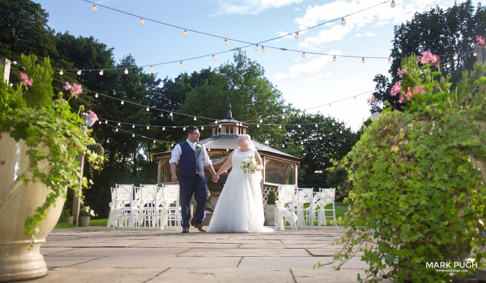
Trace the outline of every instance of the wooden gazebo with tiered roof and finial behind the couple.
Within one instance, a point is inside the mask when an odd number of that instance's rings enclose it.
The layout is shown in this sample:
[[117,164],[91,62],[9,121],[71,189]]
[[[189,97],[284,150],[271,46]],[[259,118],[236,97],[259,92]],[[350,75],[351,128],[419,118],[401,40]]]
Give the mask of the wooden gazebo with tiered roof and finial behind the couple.
[[[211,158],[216,171],[226,162],[226,158],[231,151],[238,149],[238,136],[247,133],[248,126],[248,124],[235,120],[232,117],[230,103],[228,103],[226,118],[210,124],[211,137],[200,140],[199,142],[204,144],[206,150],[208,150],[209,158]],[[260,153],[263,162],[263,182],[261,189],[263,200],[266,203],[268,192],[270,190],[276,190],[277,184],[297,185],[297,167],[300,163],[300,158],[260,144],[257,141],[253,141],[253,143]],[[169,150],[156,154],[156,159],[158,160],[157,183],[171,181],[171,168],[169,164],[171,152],[172,150]],[[207,170],[206,174],[210,180],[210,175]],[[221,175],[221,179],[217,184],[208,182],[208,189],[211,191],[221,190],[226,181],[227,174],[226,172]]]

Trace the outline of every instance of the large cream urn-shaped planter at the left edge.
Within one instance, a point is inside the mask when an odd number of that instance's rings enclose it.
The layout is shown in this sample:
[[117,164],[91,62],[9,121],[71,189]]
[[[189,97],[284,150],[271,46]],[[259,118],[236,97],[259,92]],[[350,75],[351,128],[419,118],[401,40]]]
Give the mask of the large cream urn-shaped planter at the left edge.
[[[28,249],[31,240],[25,234],[24,221],[44,203],[49,189],[40,182],[15,182],[28,169],[27,149],[23,140],[16,142],[8,133],[0,133],[0,158],[5,161],[0,165],[0,282],[33,279],[47,273],[40,245],[46,241],[63,208],[64,200],[59,198],[42,220],[32,249]],[[47,163],[39,167],[45,170]]]

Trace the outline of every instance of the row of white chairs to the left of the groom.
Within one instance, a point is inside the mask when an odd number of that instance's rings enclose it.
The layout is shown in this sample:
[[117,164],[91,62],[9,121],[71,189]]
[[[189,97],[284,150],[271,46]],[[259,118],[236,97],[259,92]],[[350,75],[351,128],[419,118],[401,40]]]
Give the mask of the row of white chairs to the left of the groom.
[[108,227],[181,226],[179,184],[115,184],[111,188]]

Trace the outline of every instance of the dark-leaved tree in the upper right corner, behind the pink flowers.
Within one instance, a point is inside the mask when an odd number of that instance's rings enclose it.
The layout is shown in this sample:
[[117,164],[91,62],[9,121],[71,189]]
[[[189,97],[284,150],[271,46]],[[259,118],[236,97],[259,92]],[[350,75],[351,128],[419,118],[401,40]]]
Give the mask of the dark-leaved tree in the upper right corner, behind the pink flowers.
[[[485,35],[486,7],[478,4],[476,9],[471,0],[455,3],[454,6],[443,10],[438,6],[428,12],[416,13],[411,21],[395,26],[395,37],[390,57],[396,58],[390,66],[388,73],[391,80],[383,75],[375,76],[376,89],[374,92],[377,103],[371,112],[381,111],[382,103],[388,101],[391,107],[400,109],[397,96],[390,96],[391,86],[400,79],[397,70],[402,59],[412,54],[430,51],[441,55],[441,71],[451,74],[451,83],[454,87],[461,77],[464,69],[471,70],[476,58],[471,55],[475,48],[475,39],[478,35]],[[453,59],[458,55],[457,60]],[[446,62],[451,64],[447,68]],[[384,88],[384,92],[380,89]]]

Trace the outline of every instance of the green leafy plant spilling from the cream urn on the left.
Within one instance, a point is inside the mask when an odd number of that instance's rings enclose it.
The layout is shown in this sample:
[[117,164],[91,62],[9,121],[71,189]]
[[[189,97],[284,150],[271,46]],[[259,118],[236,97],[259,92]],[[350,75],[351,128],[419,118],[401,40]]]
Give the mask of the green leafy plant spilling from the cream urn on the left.
[[[66,198],[66,189],[81,195],[79,185],[79,152],[94,169],[100,169],[104,158],[90,152],[87,146],[95,141],[84,132],[84,121],[74,113],[63,94],[52,91],[52,68],[49,59],[36,64],[37,57],[22,56],[24,72],[32,78],[32,86],[17,83],[13,87],[0,83],[0,132],[9,133],[16,141],[22,139],[29,147],[30,171],[17,178],[18,182],[42,182],[51,190],[44,204],[25,219],[25,232],[34,240],[38,225],[57,198]],[[69,100],[72,98],[68,94]],[[83,108],[80,108],[82,111]],[[46,150],[41,150],[45,148]],[[43,170],[42,163],[49,165]],[[87,186],[87,179],[83,178]]]

